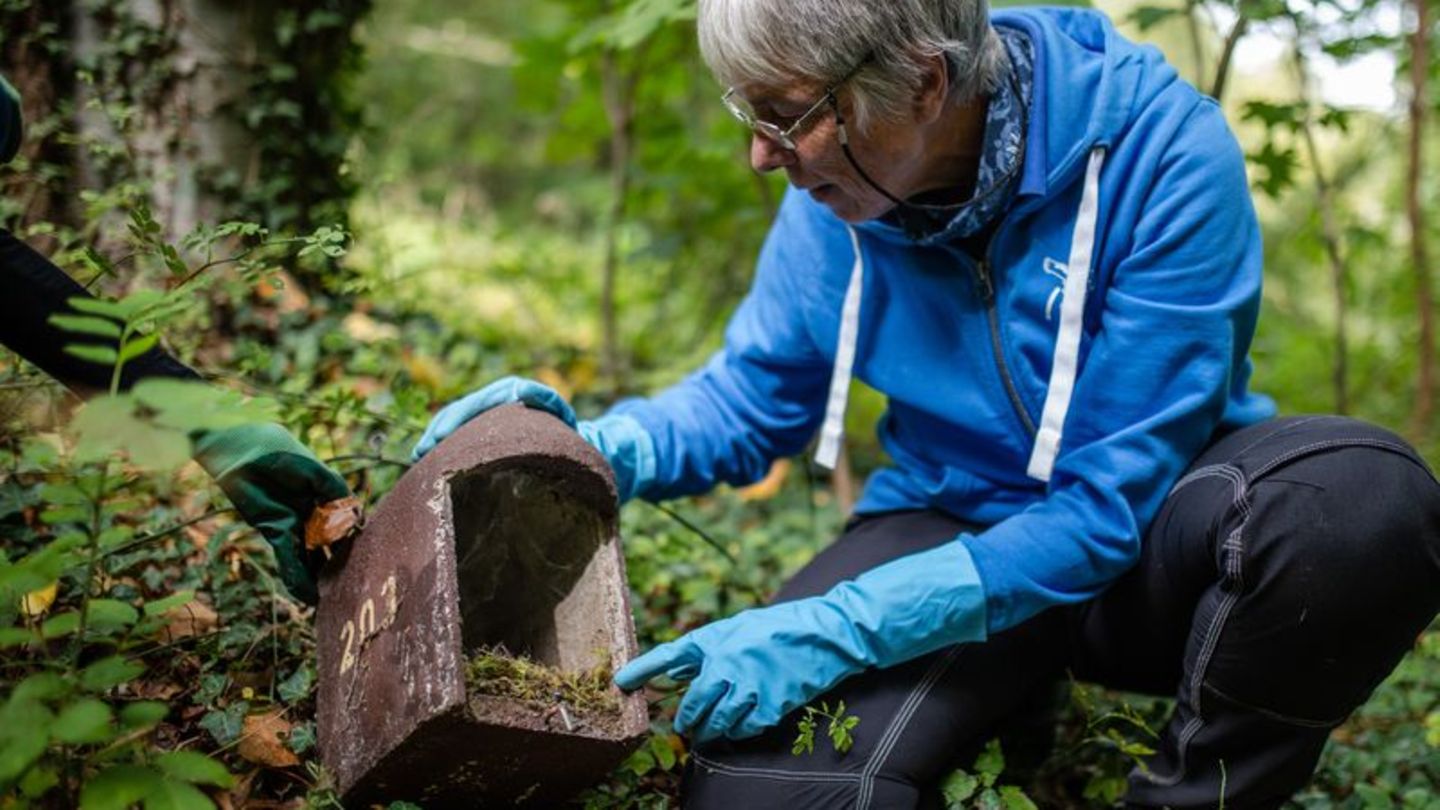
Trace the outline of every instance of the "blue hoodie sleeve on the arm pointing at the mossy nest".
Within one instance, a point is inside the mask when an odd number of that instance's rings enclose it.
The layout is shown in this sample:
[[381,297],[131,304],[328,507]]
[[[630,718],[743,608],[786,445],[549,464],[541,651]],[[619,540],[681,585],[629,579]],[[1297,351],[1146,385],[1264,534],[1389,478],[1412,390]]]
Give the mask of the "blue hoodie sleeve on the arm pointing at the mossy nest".
[[1047,496],[962,536],[989,633],[1090,598],[1133,565],[1248,376],[1261,248],[1244,159],[1214,102],[1179,131],[1115,268]]

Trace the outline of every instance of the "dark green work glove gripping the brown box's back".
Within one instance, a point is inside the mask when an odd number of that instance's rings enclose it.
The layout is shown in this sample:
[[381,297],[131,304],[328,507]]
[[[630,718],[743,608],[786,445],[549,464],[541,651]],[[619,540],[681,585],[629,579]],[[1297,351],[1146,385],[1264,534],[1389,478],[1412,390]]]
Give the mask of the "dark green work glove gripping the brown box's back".
[[318,602],[321,559],[305,551],[305,520],[315,506],[348,496],[346,480],[276,424],[209,431],[196,440],[194,450],[194,460],[220,484],[240,517],[275,549],[285,588],[305,604]]

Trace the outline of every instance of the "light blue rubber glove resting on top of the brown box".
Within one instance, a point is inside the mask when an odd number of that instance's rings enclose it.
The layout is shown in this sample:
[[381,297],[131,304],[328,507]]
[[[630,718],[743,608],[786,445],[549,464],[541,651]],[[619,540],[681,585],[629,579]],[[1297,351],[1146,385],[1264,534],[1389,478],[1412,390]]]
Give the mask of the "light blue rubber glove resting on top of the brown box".
[[425,435],[415,444],[410,458],[419,461],[422,455],[435,450],[435,445],[461,425],[474,419],[480,414],[523,402],[537,411],[553,414],[564,424],[575,428],[580,438],[598,450],[615,471],[615,489],[619,490],[619,500],[625,503],[642,494],[655,480],[655,440],[632,417],[608,415],[593,421],[576,421],[575,409],[553,388],[539,382],[507,376],[468,393],[455,402],[441,408]]

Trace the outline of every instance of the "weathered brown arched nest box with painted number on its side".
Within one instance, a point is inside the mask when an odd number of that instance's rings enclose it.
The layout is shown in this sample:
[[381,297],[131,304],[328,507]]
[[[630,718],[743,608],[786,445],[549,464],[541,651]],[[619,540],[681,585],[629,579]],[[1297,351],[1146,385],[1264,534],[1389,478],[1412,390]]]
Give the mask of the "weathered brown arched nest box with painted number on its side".
[[320,579],[320,755],[347,804],[553,804],[641,742],[641,693],[576,716],[465,689],[480,647],[562,670],[635,656],[616,519],[605,460],[523,405],[399,480]]

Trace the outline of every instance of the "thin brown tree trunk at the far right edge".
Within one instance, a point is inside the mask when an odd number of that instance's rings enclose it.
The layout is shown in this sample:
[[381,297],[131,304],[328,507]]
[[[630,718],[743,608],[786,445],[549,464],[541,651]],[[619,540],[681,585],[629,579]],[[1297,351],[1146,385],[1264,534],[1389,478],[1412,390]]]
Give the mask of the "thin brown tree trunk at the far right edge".
[[1430,98],[1430,9],[1427,0],[1414,0],[1416,32],[1410,45],[1410,176],[1405,183],[1405,209],[1410,218],[1410,264],[1416,274],[1416,307],[1420,311],[1420,372],[1416,382],[1413,432],[1430,434],[1434,414],[1434,293],[1430,257],[1426,246],[1426,218],[1420,205],[1420,179],[1424,176],[1423,146],[1426,101]]

